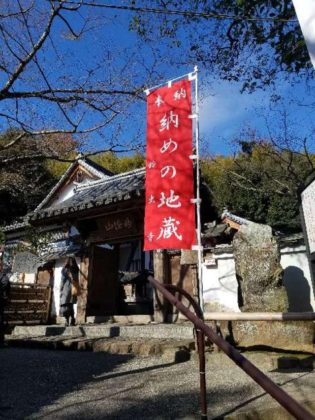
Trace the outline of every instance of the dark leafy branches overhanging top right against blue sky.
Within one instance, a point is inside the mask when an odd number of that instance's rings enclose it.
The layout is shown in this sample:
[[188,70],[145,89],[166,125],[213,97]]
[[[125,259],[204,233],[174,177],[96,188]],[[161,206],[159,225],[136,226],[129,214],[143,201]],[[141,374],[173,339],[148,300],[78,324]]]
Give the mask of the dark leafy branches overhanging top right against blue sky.
[[[142,4],[141,4],[142,3]],[[147,6],[141,0],[138,6]],[[297,20],[291,0],[154,0],[150,7],[187,10],[218,15]],[[187,45],[185,54],[172,48],[171,65],[199,64],[219,79],[241,81],[253,91],[274,83],[279,71],[313,77],[314,69],[297,21],[264,22],[247,19],[215,19],[193,16],[138,13],[132,15],[130,29],[151,44],[165,60],[165,47]],[[163,44],[164,49],[159,46]]]

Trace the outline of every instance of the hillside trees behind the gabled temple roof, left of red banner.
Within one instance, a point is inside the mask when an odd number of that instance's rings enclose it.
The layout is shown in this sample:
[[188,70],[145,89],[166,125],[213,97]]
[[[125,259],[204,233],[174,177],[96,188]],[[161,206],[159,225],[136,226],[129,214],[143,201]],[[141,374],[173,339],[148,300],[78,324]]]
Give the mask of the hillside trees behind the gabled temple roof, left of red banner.
[[[6,145],[19,132],[18,129],[10,129],[0,134],[0,146]],[[44,138],[25,137],[6,151],[2,150],[0,224],[9,224],[36,208],[75,160],[78,154],[76,147],[71,136],[56,134]],[[72,162],[43,159],[52,151],[54,155],[57,153]],[[95,156],[94,160],[114,173],[145,165],[145,158],[139,154],[119,157],[114,153],[104,153]]]

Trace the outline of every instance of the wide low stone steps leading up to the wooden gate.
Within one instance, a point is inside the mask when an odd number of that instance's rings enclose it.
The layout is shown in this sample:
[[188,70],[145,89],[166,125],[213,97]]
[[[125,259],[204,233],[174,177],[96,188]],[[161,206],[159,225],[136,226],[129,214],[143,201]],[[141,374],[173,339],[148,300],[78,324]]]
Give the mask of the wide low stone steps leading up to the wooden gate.
[[195,350],[191,325],[83,324],[16,326],[10,347],[77,350],[130,355],[161,355],[165,362],[190,359]]

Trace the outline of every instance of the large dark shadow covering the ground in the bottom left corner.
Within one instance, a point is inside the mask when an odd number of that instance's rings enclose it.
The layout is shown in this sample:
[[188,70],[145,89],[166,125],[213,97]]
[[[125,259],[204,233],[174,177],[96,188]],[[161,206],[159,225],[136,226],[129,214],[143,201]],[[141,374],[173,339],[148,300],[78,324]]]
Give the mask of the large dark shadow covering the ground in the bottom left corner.
[[0,419],[26,419],[132,355],[0,349]]

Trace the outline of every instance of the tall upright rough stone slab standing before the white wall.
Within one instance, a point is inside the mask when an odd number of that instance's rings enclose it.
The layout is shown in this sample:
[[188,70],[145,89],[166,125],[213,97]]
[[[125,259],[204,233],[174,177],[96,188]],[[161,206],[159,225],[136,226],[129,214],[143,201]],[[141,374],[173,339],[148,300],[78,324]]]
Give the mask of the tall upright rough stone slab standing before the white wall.
[[250,222],[233,239],[242,312],[287,312],[280,251],[270,226]]

